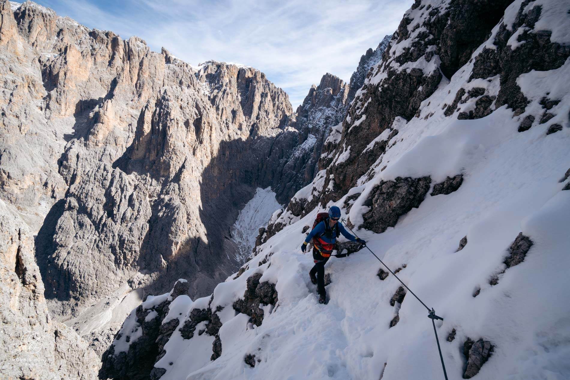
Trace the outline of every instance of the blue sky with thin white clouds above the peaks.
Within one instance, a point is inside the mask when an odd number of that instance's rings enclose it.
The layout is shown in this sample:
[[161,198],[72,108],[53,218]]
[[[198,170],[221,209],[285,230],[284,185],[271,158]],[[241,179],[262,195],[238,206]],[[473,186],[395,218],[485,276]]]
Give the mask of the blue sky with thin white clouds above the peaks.
[[35,0],[89,28],[137,35],[197,65],[214,59],[258,68],[302,103],[330,72],[349,80],[360,56],[392,34],[412,0]]

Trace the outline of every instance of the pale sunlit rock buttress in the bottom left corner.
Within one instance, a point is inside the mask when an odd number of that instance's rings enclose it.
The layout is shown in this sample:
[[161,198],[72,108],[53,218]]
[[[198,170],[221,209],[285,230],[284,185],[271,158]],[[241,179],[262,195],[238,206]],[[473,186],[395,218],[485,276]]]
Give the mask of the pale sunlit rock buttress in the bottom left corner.
[[73,329],[50,317],[34,237],[14,207],[0,201],[2,377],[91,380],[99,357]]

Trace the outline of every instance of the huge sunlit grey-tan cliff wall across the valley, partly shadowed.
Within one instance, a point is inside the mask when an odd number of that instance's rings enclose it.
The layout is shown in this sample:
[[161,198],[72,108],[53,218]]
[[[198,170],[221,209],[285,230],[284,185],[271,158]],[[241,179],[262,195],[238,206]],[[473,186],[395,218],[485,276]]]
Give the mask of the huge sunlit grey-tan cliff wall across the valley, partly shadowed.
[[253,68],[193,67],[30,2],[3,3],[2,18],[2,194],[38,229],[52,311],[76,315],[126,281],[184,274],[195,295],[225,278],[227,226],[278,181],[261,158],[296,144],[286,93]]

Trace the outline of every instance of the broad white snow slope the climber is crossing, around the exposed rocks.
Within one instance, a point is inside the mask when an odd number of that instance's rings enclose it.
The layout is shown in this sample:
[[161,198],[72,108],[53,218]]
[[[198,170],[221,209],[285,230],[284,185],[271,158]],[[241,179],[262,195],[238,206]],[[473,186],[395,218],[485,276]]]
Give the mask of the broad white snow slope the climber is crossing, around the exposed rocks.
[[[449,195],[428,195],[383,234],[357,234],[392,269],[407,264],[398,276],[445,318],[437,325],[450,378],[463,373],[466,337],[482,337],[495,345],[495,352],[478,378],[567,379],[570,191],[560,191],[564,183],[558,180],[570,167],[570,133],[568,128],[563,138],[545,136],[541,129],[518,133],[510,112],[454,120],[434,136],[427,133],[414,147],[402,144],[408,152],[394,158],[394,166],[411,170],[409,156],[440,152],[435,156],[441,157],[422,165],[431,171],[425,174],[444,175],[441,165],[451,162],[447,174],[462,167],[464,183]],[[447,150],[451,153],[441,154]],[[341,201],[335,204],[341,206]],[[263,271],[260,281],[276,281],[275,311],[254,329],[247,329],[244,321],[234,325],[227,338],[230,345],[221,336],[222,356],[187,379],[376,379],[382,371],[383,379],[442,378],[426,310],[407,295],[400,322],[389,328],[398,308],[390,307],[389,300],[400,284],[392,275],[378,279],[381,264],[367,251],[329,261],[325,272],[332,275],[331,301],[317,303],[315,285],[308,279],[312,258],[299,250],[302,228],[317,211],[269,239],[239,277]],[[361,211],[353,206],[351,219]],[[491,286],[491,276],[504,269],[506,250],[520,231],[534,246],[523,263],[507,269]],[[464,235],[467,246],[455,252]],[[271,267],[257,267],[275,247],[279,250]],[[481,293],[473,297],[478,287]],[[243,288],[238,288],[231,300],[241,296]],[[453,328],[455,340],[445,341]],[[253,369],[243,361],[247,353],[261,359]]]

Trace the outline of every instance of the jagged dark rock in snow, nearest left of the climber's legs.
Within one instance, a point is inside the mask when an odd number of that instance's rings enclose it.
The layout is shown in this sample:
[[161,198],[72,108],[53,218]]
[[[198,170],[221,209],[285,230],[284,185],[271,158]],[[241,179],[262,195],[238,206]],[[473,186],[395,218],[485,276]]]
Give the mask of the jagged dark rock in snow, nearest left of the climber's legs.
[[269,282],[259,283],[262,273],[254,273],[247,279],[247,289],[243,293],[243,299],[237,300],[233,304],[233,308],[243,314],[251,317],[251,322],[260,326],[263,322],[263,310],[259,308],[259,304],[275,305],[278,301],[275,284]]

